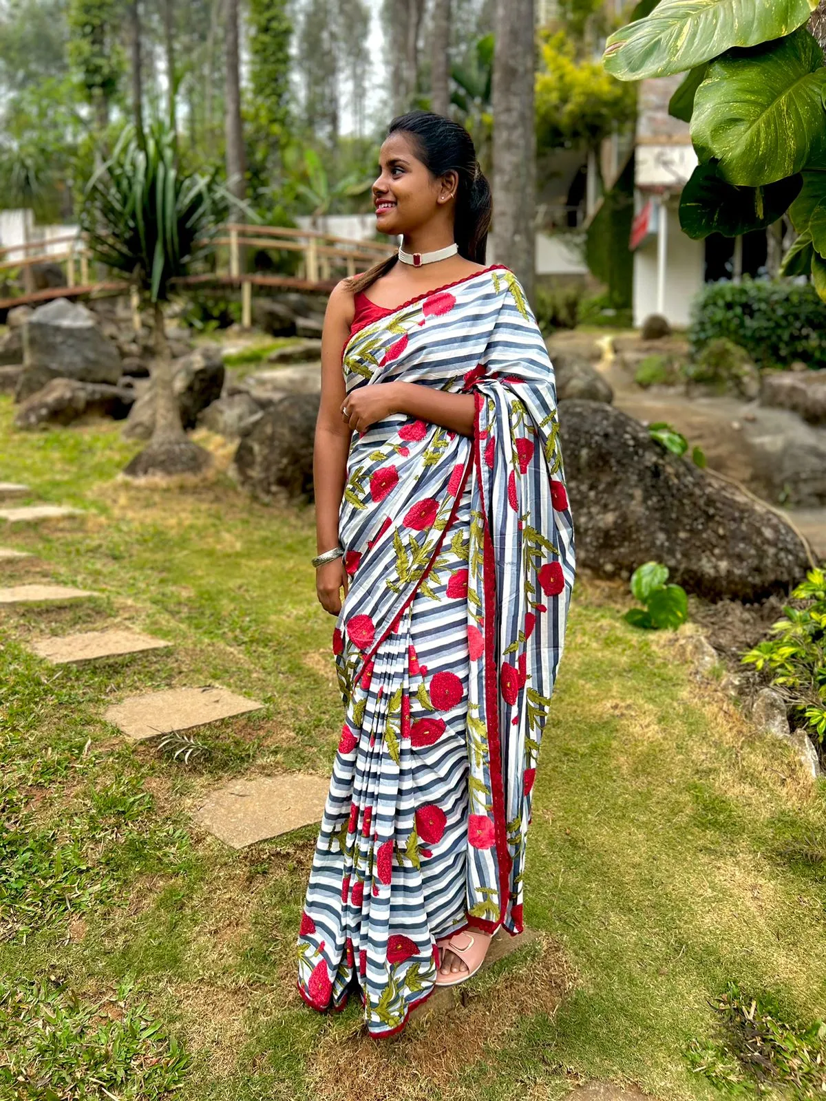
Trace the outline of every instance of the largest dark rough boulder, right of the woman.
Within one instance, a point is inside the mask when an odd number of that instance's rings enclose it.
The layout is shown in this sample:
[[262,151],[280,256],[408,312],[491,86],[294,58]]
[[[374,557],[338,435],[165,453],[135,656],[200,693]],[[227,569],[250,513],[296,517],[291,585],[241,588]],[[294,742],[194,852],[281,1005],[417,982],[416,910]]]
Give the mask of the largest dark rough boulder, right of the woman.
[[577,564],[628,579],[645,562],[710,600],[787,593],[808,568],[805,547],[768,506],[651,438],[611,405],[559,405]]

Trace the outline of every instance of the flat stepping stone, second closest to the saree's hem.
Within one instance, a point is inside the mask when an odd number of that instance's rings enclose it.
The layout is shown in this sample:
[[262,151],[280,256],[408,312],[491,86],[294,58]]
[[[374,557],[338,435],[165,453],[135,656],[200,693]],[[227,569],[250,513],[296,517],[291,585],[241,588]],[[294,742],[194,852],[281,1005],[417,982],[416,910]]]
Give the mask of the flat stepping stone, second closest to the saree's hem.
[[258,711],[263,706],[258,700],[236,696],[227,688],[204,685],[129,696],[121,704],[107,708],[104,718],[120,727],[130,741],[140,742],[155,734],[191,730],[216,719]]

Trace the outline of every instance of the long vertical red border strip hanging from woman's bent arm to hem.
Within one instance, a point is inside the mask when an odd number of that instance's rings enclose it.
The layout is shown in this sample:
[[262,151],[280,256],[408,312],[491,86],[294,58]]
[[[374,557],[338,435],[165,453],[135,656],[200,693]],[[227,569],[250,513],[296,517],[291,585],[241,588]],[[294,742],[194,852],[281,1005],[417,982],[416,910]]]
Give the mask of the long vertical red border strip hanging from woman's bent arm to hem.
[[499,868],[499,920],[489,922],[468,917],[468,924],[478,922],[477,928],[483,931],[494,929],[504,922],[504,914],[510,897],[510,873],[513,861],[508,849],[508,822],[504,810],[504,785],[502,781],[502,754],[499,730],[499,693],[497,686],[499,676],[496,659],[496,563],[493,560],[493,539],[490,531],[490,519],[485,503],[481,471],[481,437],[479,435],[479,414],[485,404],[485,395],[478,390],[474,393],[476,416],[474,417],[474,459],[476,476],[479,481],[479,503],[485,525],[485,547],[482,550],[482,591],[485,614],[485,717],[488,727],[488,756],[490,760],[490,783],[493,795],[493,830],[496,835],[497,863]]

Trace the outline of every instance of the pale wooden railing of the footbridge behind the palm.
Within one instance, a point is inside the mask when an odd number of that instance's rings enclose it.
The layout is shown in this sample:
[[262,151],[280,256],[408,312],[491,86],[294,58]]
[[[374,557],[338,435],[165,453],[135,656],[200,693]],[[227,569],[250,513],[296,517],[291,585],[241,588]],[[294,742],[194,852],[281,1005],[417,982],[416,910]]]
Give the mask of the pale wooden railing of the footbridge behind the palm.
[[[216,270],[176,280],[176,285],[194,286],[211,283],[240,286],[241,324],[244,328],[249,328],[252,324],[252,288],[254,286],[330,291],[336,279],[340,279],[343,275],[355,275],[359,268],[369,268],[392,252],[389,244],[336,237],[320,230],[293,229],[282,226],[247,226],[238,222],[230,222],[224,227],[219,236],[213,239],[213,243],[217,249]],[[47,251],[47,247],[54,244],[64,244],[65,248],[57,252]],[[244,248],[298,252],[301,253],[298,272],[296,275],[242,272],[241,250]],[[29,253],[37,249],[41,251],[34,255],[23,255],[14,260],[2,259],[9,253]],[[124,290],[128,286],[126,282],[90,283],[90,258],[89,250],[80,235],[0,248],[0,273],[20,271],[25,291],[23,295],[0,298],[0,308],[9,309],[12,306],[34,305],[50,298],[64,296],[80,297],[93,294],[95,291]],[[35,291],[32,266],[55,262],[65,264],[66,286]],[[79,283],[77,281],[78,274]]]

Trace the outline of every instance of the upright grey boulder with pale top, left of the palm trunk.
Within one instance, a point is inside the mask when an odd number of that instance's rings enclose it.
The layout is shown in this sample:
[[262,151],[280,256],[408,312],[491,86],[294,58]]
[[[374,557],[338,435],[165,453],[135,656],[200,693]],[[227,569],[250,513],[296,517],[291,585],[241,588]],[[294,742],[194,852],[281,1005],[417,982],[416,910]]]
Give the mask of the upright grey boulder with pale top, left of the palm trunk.
[[23,372],[15,393],[18,401],[42,390],[52,379],[115,385],[120,378],[118,349],[85,306],[55,298],[39,306],[22,331]]

